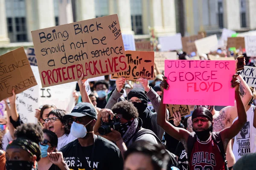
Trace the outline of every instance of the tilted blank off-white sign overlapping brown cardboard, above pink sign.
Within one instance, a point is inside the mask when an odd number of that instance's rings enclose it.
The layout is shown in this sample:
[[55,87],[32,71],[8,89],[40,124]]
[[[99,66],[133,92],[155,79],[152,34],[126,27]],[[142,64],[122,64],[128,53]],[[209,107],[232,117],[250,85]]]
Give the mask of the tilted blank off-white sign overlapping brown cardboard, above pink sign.
[[195,47],[198,54],[208,54],[211,51],[216,51],[218,49],[217,35],[215,34],[200,40],[195,40]]

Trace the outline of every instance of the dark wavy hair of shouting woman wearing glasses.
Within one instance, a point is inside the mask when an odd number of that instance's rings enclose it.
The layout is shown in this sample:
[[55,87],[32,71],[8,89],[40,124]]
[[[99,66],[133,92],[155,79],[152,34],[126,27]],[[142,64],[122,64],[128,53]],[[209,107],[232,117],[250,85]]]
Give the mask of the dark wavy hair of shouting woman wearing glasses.
[[50,115],[54,115],[57,118],[59,118],[61,120],[61,123],[64,125],[65,128],[65,134],[69,135],[70,134],[70,128],[71,128],[71,124],[70,124],[70,120],[69,119],[63,119],[63,116],[66,115],[67,112],[61,109],[55,109],[50,111],[50,113],[48,114],[48,117]]

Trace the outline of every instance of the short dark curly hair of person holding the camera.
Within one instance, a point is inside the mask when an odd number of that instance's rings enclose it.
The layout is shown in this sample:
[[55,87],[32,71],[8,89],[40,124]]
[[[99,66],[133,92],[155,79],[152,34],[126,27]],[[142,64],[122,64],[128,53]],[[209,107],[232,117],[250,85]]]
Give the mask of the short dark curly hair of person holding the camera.
[[112,109],[113,113],[122,114],[122,117],[125,120],[131,120],[132,118],[135,119],[139,116],[137,108],[128,101],[118,102],[113,105]]

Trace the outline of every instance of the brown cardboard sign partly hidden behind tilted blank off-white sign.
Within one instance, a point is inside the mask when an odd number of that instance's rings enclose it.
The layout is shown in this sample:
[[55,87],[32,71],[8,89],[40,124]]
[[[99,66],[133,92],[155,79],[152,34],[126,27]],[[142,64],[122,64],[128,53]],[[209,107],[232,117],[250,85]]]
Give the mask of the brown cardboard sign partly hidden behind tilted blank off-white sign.
[[199,40],[201,38],[204,38],[203,34],[198,34],[198,35],[192,35],[189,37],[182,37],[182,48],[183,51],[185,51],[187,54],[191,54],[192,52],[196,52],[196,47],[195,47],[195,40]]

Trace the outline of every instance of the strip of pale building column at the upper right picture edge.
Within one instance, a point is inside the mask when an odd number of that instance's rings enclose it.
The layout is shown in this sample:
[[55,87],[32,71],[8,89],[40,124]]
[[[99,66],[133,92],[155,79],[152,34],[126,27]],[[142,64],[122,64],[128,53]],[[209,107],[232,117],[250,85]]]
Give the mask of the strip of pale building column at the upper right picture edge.
[[248,13],[249,13],[249,28],[256,28],[256,1],[248,0]]

